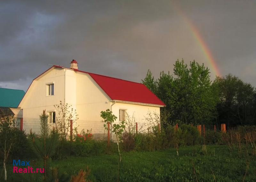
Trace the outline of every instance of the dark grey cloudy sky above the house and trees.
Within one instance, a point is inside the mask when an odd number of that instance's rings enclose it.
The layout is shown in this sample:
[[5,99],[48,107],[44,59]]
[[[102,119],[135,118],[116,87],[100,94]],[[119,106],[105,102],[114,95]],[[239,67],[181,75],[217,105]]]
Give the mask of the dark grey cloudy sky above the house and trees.
[[212,80],[231,73],[256,86],[255,10],[247,0],[1,1],[0,87],[26,91],[49,64],[72,59],[135,82],[196,60]]

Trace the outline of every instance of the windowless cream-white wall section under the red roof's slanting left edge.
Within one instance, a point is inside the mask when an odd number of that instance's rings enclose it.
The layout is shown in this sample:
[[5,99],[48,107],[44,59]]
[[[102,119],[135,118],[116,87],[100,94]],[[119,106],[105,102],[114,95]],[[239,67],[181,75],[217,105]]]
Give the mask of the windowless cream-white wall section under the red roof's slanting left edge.
[[[100,112],[110,109],[110,98],[87,73],[76,73],[76,111],[78,131],[90,130],[103,133]],[[79,126],[78,126],[79,125]],[[97,138],[97,136],[96,136]],[[102,139],[102,138],[101,138]]]

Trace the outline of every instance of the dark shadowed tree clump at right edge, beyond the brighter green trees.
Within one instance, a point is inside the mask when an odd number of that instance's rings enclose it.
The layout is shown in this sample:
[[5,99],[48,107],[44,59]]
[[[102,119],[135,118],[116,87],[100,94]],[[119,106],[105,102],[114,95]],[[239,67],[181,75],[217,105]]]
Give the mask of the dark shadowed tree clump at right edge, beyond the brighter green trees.
[[220,89],[219,122],[228,127],[255,124],[255,88],[232,74],[217,77],[214,82]]

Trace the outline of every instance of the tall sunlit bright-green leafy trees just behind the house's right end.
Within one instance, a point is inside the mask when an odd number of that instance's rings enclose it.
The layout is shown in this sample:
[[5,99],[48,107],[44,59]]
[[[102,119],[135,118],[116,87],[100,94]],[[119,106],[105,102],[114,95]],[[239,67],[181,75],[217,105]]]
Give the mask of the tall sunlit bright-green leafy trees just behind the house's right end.
[[143,83],[149,89],[155,85],[156,95],[166,104],[161,108],[162,121],[164,119],[169,124],[207,123],[216,117],[218,87],[211,82],[210,71],[204,64],[192,61],[188,67],[183,59],[177,60],[173,75],[161,72],[154,81],[148,72]]

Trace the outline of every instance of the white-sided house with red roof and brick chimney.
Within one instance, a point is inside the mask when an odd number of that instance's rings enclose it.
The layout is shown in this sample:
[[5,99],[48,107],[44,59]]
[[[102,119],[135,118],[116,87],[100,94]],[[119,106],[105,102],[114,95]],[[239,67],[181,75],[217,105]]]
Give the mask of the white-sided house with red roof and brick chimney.
[[54,105],[62,101],[76,109],[80,130],[101,133],[101,111],[110,109],[118,120],[125,120],[126,113],[134,114],[136,122],[144,122],[148,112],[159,115],[165,106],[144,84],[78,70],[76,60],[70,64],[70,68],[54,65],[33,80],[19,104],[24,119],[38,118],[45,109],[49,123],[55,123]]

